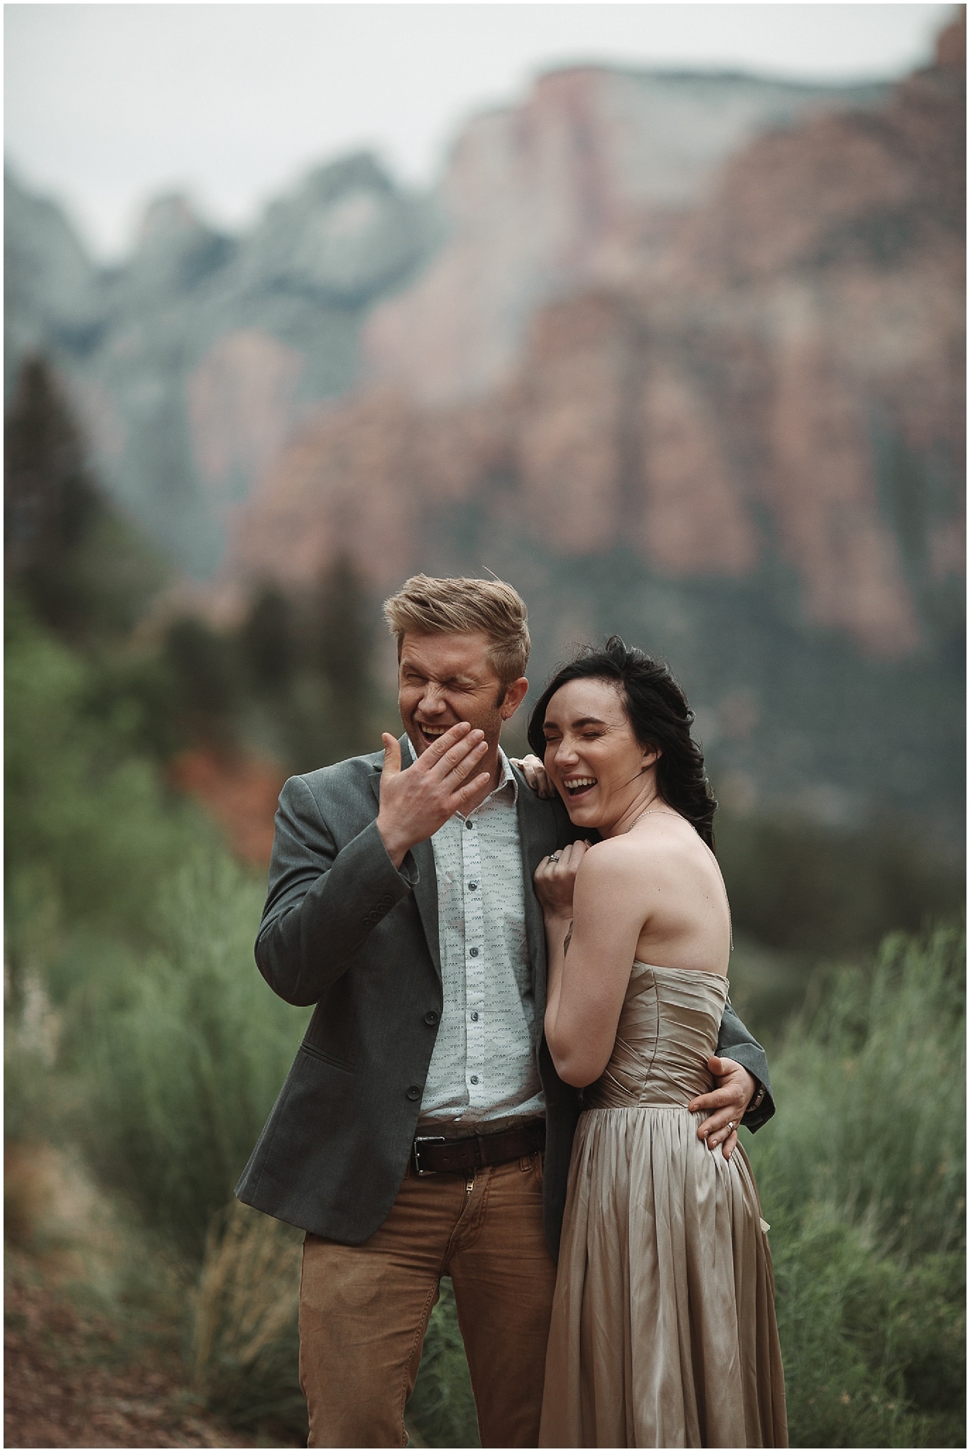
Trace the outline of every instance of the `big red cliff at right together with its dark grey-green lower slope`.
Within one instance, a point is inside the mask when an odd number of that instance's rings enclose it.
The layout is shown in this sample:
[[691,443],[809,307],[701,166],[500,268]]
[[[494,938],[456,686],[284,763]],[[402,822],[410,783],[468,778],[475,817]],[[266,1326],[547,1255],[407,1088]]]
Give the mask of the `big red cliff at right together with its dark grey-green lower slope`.
[[[608,629],[667,653],[735,800],[958,831],[963,128],[937,64],[755,136],[623,274],[534,311],[495,386],[428,398],[415,353],[417,385],[319,409],[224,598],[337,550],[375,591],[494,569],[540,672]],[[434,337],[446,264],[375,318]]]

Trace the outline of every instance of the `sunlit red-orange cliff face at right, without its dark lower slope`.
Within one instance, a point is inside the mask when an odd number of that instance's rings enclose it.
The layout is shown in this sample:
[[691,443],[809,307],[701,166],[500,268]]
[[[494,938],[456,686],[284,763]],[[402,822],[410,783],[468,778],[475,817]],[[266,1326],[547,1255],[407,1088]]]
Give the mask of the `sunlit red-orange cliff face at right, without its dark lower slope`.
[[[774,556],[809,621],[887,658],[916,649],[921,591],[961,568],[954,49],[879,110],[755,139],[642,266],[540,309],[491,392],[431,407],[386,383],[322,411],[240,515],[225,579],[303,585],[350,549],[391,587],[434,569],[436,520],[475,504],[553,553],[624,543],[674,578]],[[584,73],[553,80],[581,112]],[[592,197],[562,256],[591,254],[621,227],[619,189],[562,164]],[[441,279],[395,305],[418,372],[465,356]]]

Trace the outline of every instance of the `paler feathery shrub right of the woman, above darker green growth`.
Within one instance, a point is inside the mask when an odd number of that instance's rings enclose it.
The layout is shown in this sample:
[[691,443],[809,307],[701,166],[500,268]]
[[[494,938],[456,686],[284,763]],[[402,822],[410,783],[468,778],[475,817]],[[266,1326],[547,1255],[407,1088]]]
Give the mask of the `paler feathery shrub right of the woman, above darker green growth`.
[[751,1143],[775,1214],[831,1204],[903,1256],[963,1246],[964,960],[963,929],[937,928],[816,974]]

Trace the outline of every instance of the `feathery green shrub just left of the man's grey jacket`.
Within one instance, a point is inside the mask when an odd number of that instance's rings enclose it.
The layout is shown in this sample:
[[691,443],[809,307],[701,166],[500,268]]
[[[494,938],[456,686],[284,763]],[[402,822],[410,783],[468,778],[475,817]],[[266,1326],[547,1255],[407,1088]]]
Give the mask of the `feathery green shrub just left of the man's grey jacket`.
[[121,995],[113,976],[94,984],[83,1009],[90,1156],[193,1259],[308,1019],[256,970],[261,903],[261,886],[224,854],[197,854],[163,889],[158,947],[132,957]]

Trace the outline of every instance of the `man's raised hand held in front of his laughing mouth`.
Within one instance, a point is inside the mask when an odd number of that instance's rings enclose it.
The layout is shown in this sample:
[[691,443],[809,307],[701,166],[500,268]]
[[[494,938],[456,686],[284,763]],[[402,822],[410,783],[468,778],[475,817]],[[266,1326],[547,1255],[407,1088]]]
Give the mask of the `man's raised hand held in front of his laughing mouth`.
[[401,770],[401,742],[385,732],[378,831],[388,857],[401,867],[417,842],[433,836],[456,812],[484,791],[491,777],[476,772],[488,749],[485,733],[459,722],[423,751],[412,767]]

